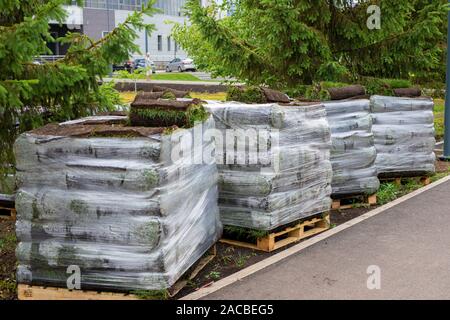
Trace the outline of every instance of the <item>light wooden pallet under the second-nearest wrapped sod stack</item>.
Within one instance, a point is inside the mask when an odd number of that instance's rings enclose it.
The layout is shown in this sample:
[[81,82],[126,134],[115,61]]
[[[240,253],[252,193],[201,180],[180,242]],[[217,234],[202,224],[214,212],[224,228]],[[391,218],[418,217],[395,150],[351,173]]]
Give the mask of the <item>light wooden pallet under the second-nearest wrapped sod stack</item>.
[[265,237],[258,238],[256,244],[229,239],[221,239],[220,242],[237,247],[272,252],[289,244],[324,232],[329,228],[330,215],[329,213],[326,213],[323,217],[305,220],[294,227],[288,227],[280,232],[274,232]]

